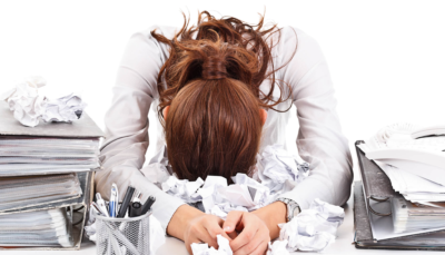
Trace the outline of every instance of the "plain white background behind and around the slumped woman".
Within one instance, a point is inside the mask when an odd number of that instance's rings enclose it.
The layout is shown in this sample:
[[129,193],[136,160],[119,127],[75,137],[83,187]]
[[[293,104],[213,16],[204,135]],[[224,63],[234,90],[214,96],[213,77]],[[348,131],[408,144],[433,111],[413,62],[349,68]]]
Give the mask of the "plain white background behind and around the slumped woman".
[[[134,32],[156,23],[179,27],[181,10],[192,20],[198,10],[209,10],[254,23],[265,8],[266,21],[297,27],[322,46],[352,149],[355,140],[389,124],[443,121],[445,2],[441,0],[2,0],[0,92],[24,76],[43,76],[47,92],[82,91],[88,114],[105,128],[116,70]],[[296,125],[294,117],[289,144],[295,144]],[[155,127],[150,137],[156,137]]]

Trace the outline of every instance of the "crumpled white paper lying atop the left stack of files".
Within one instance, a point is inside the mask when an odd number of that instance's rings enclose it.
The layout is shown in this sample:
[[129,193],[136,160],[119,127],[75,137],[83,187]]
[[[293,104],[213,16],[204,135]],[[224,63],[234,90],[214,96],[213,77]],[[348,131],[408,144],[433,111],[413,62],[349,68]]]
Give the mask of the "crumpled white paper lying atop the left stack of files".
[[46,86],[46,81],[42,77],[28,77],[16,88],[3,94],[0,100],[7,101],[14,118],[28,127],[39,125],[40,118],[47,122],[71,122],[81,117],[87,104],[82,101],[79,95],[69,94],[49,100],[39,95],[39,88],[43,86]]

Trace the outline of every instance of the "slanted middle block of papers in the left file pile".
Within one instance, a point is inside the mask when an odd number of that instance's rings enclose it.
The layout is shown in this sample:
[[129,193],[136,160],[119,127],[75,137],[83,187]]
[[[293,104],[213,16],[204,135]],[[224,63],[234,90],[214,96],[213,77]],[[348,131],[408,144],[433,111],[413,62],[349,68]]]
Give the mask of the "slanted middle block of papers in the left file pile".
[[0,213],[80,197],[77,174],[0,178]]

